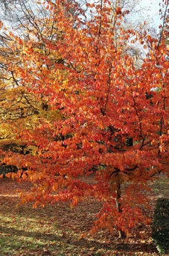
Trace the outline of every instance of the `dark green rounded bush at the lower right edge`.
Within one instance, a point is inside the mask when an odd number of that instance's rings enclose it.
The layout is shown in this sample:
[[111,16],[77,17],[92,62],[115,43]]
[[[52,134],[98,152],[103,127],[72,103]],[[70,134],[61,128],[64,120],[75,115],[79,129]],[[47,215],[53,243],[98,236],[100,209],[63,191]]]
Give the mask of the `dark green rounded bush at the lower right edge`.
[[153,243],[159,253],[169,252],[169,199],[159,198],[153,216]]

